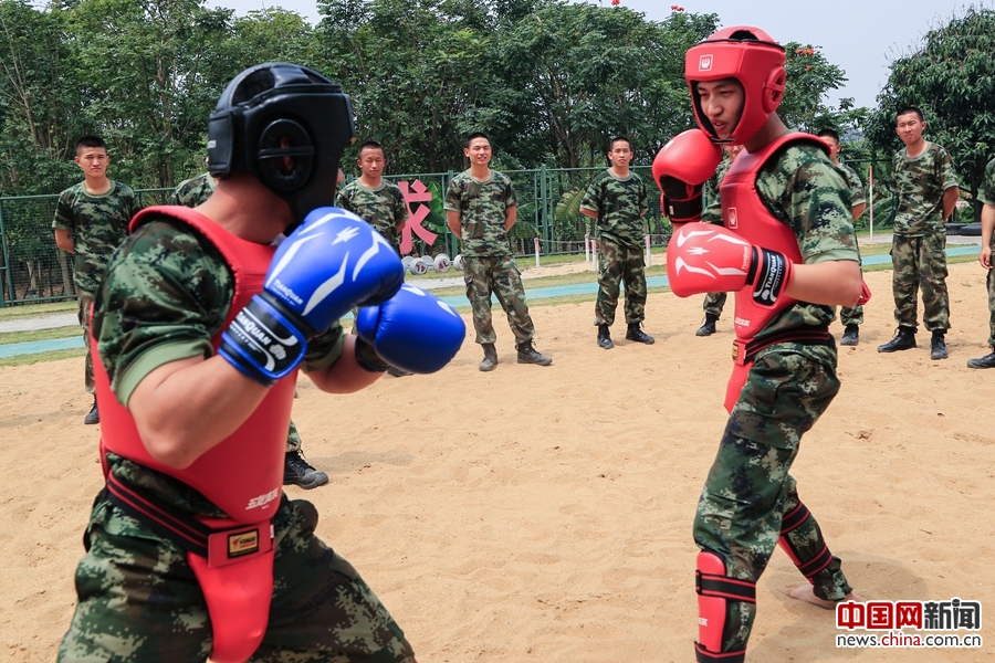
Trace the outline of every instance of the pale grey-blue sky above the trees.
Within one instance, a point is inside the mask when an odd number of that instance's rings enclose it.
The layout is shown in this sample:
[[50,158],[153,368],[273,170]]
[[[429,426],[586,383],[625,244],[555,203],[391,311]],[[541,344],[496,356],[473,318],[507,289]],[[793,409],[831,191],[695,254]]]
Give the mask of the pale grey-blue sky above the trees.
[[[991,8],[995,0],[816,0],[768,2],[747,0],[687,0],[687,11],[716,13],[723,25],[756,25],[776,41],[797,41],[818,46],[826,59],[847,73],[849,82],[829,98],[853,97],[859,106],[873,107],[878,92],[888,80],[892,57],[920,43],[931,28],[945,23],[967,6]],[[300,13],[312,23],[320,19],[314,0],[208,0],[244,13],[280,6]],[[610,4],[603,0],[601,4]],[[670,14],[667,0],[621,0],[624,7],[661,21]]]

